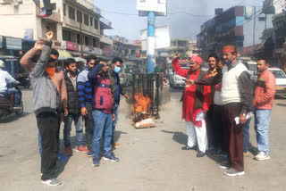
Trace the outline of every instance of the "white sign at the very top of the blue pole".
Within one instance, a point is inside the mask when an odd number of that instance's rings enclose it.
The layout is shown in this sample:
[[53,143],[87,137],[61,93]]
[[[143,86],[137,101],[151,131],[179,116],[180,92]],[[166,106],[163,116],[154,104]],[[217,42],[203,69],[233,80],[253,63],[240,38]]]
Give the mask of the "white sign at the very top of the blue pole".
[[148,12],[155,12],[156,16],[167,14],[167,0],[137,0],[139,16],[147,16]]

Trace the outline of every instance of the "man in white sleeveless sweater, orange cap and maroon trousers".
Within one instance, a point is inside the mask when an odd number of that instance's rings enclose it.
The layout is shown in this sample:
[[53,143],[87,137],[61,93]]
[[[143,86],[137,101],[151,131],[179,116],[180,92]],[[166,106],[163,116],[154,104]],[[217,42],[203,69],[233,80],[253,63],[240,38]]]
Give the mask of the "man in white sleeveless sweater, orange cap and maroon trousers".
[[238,59],[235,46],[223,46],[223,70],[208,79],[189,80],[189,84],[216,85],[222,82],[223,144],[227,148],[228,161],[220,167],[227,169],[227,176],[244,175],[243,124],[253,103],[248,69]]

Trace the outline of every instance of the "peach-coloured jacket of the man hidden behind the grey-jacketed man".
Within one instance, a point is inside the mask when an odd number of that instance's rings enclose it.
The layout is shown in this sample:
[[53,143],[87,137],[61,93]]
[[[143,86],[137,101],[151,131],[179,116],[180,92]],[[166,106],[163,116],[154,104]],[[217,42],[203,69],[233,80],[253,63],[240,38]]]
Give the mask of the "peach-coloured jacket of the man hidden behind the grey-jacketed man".
[[[21,66],[23,66],[27,71],[31,72],[34,70],[36,63],[31,62],[31,58],[37,53],[36,48],[30,49],[26,54],[21,57]],[[68,107],[67,103],[67,93],[66,93],[66,87],[64,83],[64,77],[63,77],[63,71],[55,71],[54,79],[58,86],[60,87],[60,99],[61,99],[61,105],[63,108]]]

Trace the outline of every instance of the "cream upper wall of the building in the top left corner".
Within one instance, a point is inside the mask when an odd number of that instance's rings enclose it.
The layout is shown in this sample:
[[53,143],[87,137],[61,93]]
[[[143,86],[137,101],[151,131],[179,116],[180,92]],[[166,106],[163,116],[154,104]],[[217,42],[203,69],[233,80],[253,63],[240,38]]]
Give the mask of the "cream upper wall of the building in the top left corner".
[[0,4],[0,34],[8,37],[23,38],[25,29],[33,29],[33,38],[37,39],[36,5],[32,0],[23,0],[22,4]]

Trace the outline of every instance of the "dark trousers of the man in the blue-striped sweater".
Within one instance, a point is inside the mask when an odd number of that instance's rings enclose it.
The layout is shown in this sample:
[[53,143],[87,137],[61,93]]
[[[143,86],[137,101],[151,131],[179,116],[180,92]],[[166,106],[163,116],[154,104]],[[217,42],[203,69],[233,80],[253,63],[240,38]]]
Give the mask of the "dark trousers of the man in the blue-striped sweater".
[[92,139],[93,139],[93,116],[92,116],[92,105],[86,104],[88,115],[84,118],[86,127],[86,142],[88,151],[92,151]]

